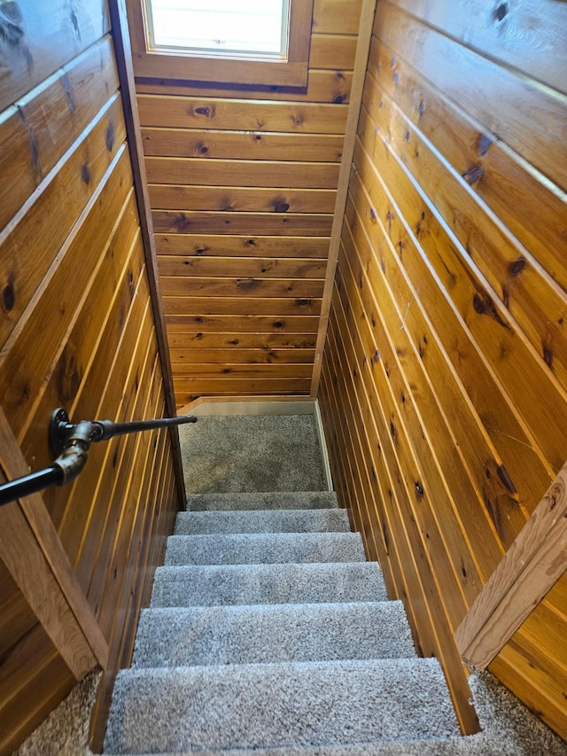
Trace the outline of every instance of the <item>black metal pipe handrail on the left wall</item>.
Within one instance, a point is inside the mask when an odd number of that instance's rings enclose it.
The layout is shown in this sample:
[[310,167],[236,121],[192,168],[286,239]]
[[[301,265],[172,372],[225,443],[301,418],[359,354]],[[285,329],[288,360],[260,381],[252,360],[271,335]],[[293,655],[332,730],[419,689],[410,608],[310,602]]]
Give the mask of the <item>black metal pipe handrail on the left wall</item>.
[[49,444],[57,459],[49,467],[30,472],[21,478],[9,480],[0,486],[0,506],[15,502],[22,496],[35,494],[51,486],[65,486],[74,480],[87,463],[91,443],[123,436],[127,433],[151,431],[154,428],[170,428],[185,423],[196,423],[197,417],[162,417],[156,420],[136,420],[132,423],[113,423],[111,420],[81,420],[70,423],[65,409],[55,409],[51,414]]

